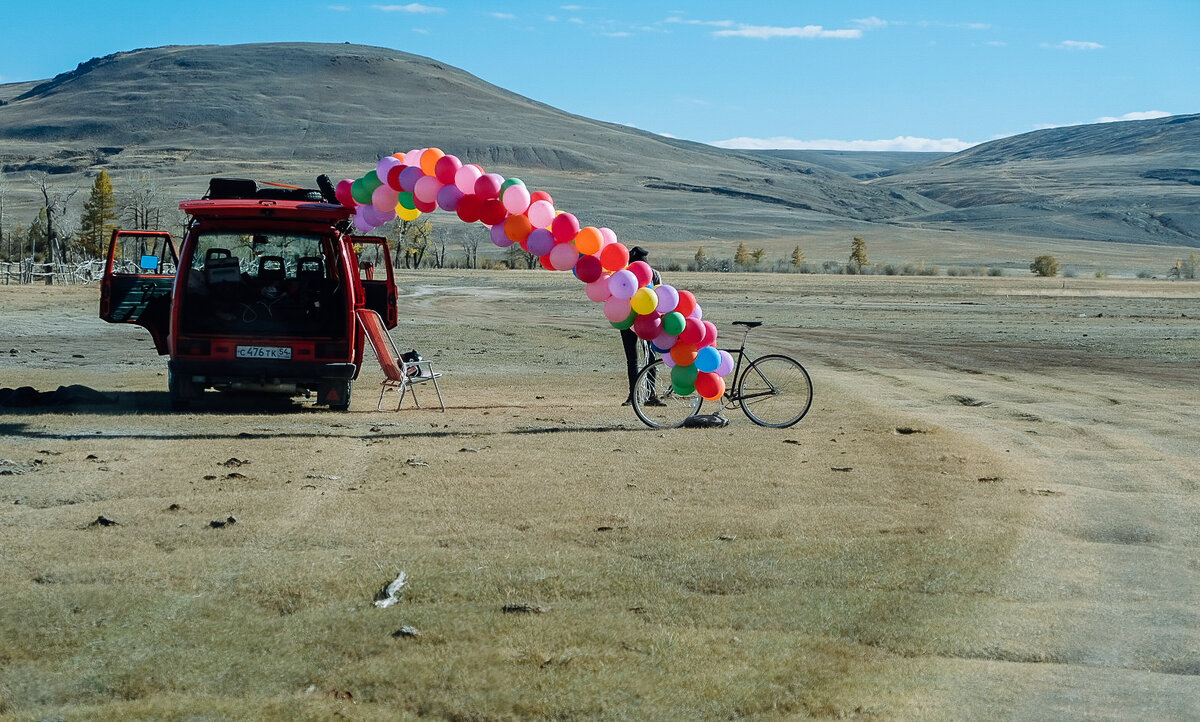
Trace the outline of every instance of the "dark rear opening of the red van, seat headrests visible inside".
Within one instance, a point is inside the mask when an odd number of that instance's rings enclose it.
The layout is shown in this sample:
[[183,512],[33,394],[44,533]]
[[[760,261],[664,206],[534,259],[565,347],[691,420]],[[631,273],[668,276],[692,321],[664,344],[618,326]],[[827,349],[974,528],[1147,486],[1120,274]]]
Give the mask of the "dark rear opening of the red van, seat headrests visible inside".
[[181,299],[184,332],[341,337],[346,288],[332,239],[280,231],[200,233]]

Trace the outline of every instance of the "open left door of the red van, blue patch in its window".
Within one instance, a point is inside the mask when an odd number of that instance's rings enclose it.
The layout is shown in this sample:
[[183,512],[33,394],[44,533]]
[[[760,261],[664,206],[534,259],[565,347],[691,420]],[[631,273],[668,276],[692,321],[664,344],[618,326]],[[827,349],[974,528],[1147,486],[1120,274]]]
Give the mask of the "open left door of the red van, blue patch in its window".
[[100,282],[100,318],[137,324],[150,331],[155,349],[167,354],[170,294],[179,254],[169,233],[114,230]]

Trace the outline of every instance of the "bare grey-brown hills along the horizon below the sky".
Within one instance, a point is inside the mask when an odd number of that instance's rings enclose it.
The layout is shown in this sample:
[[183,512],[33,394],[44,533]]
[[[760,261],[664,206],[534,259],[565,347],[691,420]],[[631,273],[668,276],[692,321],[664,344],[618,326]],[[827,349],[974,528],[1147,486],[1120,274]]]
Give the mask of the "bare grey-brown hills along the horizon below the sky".
[[737,151],[572,115],[398,50],[176,46],[0,85],[0,172],[76,185],[101,168],[146,173],[187,198],[211,175],[311,183],[436,145],[634,239],[880,225],[1195,246],[1196,118],[1052,128],[944,157]]

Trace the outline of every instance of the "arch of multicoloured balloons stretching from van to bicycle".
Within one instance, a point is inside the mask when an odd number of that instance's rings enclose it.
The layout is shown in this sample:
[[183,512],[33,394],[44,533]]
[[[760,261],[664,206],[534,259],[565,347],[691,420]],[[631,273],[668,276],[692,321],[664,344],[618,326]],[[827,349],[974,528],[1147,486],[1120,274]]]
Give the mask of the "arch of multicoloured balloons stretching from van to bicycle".
[[550,193],[529,192],[516,178],[485,173],[436,148],[386,156],[358,180],[337,183],[337,200],[355,209],[354,225],[373,230],[398,217],[413,221],[437,209],[464,223],[491,228],[492,242],[518,243],[552,271],[571,271],[588,299],[604,305],[617,329],[632,329],[671,367],[682,395],[715,401],[725,392],[733,357],[716,348],[716,326],[703,320],[691,291],[654,285],[644,260],[629,261],[629,249],[608,228],[580,227],[574,215],[554,209]]

